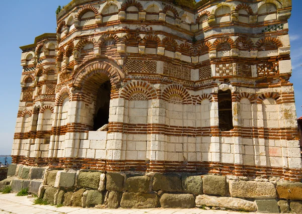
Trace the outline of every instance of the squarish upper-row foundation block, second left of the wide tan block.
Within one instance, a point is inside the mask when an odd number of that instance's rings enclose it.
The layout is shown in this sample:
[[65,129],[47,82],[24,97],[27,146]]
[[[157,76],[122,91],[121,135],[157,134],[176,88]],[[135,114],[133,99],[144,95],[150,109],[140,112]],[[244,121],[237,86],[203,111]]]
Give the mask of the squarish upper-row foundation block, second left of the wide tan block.
[[202,194],[202,178],[197,176],[182,176],[182,187],[185,192]]

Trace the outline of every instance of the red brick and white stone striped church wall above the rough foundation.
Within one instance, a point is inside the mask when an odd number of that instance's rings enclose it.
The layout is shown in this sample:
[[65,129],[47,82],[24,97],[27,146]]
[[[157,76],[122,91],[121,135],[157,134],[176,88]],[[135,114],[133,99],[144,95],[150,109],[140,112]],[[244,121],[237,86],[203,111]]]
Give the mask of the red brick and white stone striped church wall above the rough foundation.
[[300,182],[290,15],[285,0],[70,2],[20,47],[14,164]]

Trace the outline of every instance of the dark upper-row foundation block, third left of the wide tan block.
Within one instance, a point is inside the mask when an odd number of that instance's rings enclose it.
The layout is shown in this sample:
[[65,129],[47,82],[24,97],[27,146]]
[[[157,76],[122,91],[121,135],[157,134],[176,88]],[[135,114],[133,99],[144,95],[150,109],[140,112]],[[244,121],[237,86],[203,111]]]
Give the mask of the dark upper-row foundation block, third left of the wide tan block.
[[155,191],[180,192],[182,191],[180,176],[176,174],[155,174],[152,189]]

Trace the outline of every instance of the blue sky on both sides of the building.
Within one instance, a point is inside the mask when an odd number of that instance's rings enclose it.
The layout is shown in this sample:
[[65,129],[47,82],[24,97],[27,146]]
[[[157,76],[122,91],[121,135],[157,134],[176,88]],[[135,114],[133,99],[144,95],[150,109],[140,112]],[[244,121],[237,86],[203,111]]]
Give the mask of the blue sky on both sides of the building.
[[[0,20],[0,155],[11,154],[20,98],[20,46],[34,43],[36,36],[55,33],[55,11],[59,5],[70,0],[17,0],[3,1]],[[302,1],[292,0],[293,10],[289,20],[291,59],[293,72],[290,81],[294,84],[297,117],[302,116]]]

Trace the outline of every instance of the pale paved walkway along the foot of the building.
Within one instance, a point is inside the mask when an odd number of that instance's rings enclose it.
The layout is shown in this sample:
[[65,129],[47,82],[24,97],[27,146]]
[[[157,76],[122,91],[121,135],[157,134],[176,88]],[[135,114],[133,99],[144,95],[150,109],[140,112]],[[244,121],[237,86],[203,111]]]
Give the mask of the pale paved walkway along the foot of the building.
[[[240,214],[241,212],[224,211],[224,210],[204,210],[199,208],[193,209],[165,209],[165,208],[150,208],[150,209],[97,209],[97,208],[81,208],[62,206],[57,208],[51,205],[34,205],[34,199],[27,196],[16,196],[15,193],[0,194],[0,213],[15,213],[15,214],[54,214],[54,213],[119,213],[119,214]],[[255,212],[249,212],[253,214]],[[257,213],[259,214],[259,213]]]

